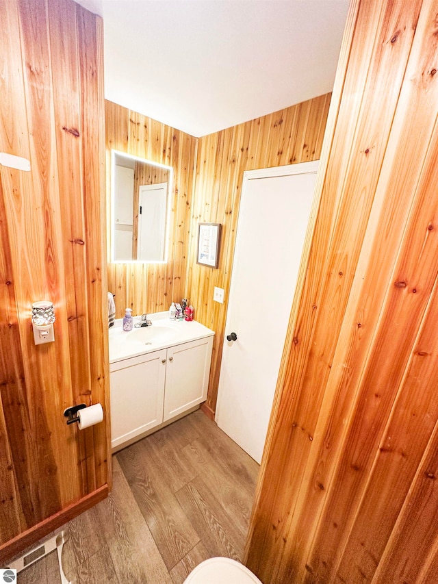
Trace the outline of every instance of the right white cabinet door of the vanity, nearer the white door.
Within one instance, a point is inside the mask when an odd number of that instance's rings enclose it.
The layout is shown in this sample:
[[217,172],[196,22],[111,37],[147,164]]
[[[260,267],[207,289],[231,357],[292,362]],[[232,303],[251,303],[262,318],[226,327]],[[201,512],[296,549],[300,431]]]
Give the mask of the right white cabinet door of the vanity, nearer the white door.
[[213,337],[167,350],[163,421],[207,399]]

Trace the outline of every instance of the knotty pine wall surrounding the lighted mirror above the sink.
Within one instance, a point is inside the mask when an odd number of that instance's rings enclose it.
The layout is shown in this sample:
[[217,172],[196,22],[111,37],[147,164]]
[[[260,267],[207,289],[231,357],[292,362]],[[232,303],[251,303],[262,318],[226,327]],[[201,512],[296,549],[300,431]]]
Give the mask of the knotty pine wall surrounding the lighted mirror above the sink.
[[168,310],[172,300],[181,301],[185,293],[197,140],[111,101],[105,101],[105,128],[108,200],[111,149],[173,168],[168,262],[112,264],[107,258],[108,290],[116,294],[116,318],[125,314],[126,307],[134,315]]

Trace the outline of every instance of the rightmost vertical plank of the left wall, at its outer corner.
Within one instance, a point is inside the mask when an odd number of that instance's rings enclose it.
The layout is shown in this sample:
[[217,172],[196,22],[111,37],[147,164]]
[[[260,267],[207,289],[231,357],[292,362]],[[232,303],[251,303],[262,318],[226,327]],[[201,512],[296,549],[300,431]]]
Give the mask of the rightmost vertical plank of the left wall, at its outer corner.
[[[105,264],[105,104],[103,100],[103,22],[77,7],[82,95],[83,213],[86,229],[88,335],[91,385],[88,403],[101,403],[106,423],[92,427],[86,454],[88,490],[111,485],[111,425],[108,368],[107,270]],[[80,243],[79,243],[80,244]],[[81,289],[79,289],[81,290]],[[83,290],[83,289],[82,289]],[[81,290],[81,291],[82,291]],[[78,295],[78,294],[77,294]],[[88,392],[86,392],[87,394]],[[87,401],[85,402],[87,403]]]

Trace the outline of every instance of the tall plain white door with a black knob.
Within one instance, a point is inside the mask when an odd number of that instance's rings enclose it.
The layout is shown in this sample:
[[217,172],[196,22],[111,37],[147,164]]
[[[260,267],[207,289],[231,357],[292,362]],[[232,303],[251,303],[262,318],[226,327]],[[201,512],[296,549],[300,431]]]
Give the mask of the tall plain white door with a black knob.
[[[318,162],[244,173],[216,422],[261,461]],[[235,333],[237,340],[227,341]]]

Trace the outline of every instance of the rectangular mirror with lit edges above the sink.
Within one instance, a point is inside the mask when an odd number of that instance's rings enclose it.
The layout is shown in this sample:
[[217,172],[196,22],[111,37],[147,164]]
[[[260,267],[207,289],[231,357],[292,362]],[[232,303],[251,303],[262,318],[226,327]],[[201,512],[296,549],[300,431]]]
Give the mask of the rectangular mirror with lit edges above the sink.
[[172,167],[111,151],[111,261],[167,259]]

